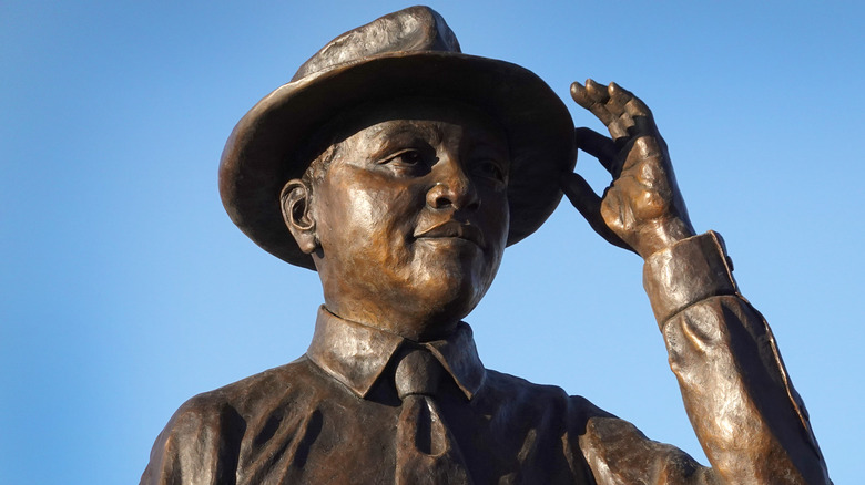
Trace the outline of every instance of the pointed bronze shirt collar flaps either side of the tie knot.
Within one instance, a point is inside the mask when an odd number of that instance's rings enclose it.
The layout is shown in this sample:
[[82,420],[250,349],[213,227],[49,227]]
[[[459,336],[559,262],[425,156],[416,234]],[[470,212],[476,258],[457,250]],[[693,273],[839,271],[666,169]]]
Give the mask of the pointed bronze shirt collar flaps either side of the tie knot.
[[[332,378],[364,398],[405,342],[406,339],[395,333],[342,319],[322,306],[306,355]],[[484,385],[486,371],[468,323],[459,322],[457,330],[447,339],[421,345],[441,362],[469,400]]]

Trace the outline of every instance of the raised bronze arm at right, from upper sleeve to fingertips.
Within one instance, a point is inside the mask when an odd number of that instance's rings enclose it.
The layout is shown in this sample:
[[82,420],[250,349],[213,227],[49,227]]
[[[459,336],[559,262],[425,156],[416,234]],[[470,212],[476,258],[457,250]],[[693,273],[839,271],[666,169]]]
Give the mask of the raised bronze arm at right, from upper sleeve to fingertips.
[[[723,241],[694,235],[651,111],[614,83],[574,83],[571,95],[610,132],[577,128],[577,143],[612,183],[598,196],[567,174],[562,189],[598,234],[645,260],[643,283],[670,365],[712,464],[701,468],[627,426],[590,423],[581,446],[598,481],[831,483],[774,337],[740,295]],[[648,456],[624,460],[629,453]]]

